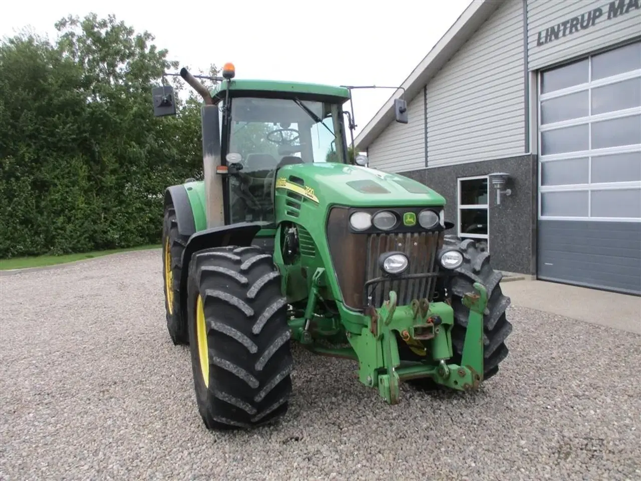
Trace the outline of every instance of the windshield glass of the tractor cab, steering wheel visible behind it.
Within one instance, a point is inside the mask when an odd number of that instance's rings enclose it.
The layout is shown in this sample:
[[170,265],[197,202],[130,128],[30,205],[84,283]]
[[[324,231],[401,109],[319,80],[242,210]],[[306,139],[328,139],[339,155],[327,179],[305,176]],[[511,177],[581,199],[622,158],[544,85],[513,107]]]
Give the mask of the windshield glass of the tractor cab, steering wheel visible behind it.
[[345,162],[338,103],[237,97],[231,100],[227,164],[230,221],[274,221],[276,167],[292,163]]

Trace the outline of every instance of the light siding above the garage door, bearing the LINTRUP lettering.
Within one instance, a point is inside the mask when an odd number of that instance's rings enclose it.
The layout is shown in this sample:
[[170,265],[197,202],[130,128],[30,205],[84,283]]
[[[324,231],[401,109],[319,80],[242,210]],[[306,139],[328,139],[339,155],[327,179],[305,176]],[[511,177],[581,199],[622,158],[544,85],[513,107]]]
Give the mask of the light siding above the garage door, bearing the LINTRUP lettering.
[[[606,45],[615,44],[622,40],[641,35],[641,9],[632,6],[628,13],[608,19],[610,4],[624,5],[629,0],[528,0],[528,56],[529,69],[535,70],[553,63],[562,62],[567,58],[585,55]],[[630,3],[631,5],[634,2]],[[558,25],[572,17],[578,16],[588,25],[588,13],[595,8],[601,8],[602,15],[597,18],[594,26],[588,26],[578,31],[559,37],[547,44],[537,46],[538,32],[542,32],[545,40],[545,30]],[[580,24],[579,24],[580,25]]]

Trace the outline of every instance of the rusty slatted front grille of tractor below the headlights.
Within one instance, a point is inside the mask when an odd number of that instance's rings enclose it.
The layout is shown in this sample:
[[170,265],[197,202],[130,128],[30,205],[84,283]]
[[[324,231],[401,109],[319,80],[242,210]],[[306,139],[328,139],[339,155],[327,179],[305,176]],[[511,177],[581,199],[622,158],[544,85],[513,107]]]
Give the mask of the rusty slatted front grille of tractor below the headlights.
[[[438,271],[436,253],[440,243],[440,232],[381,233],[367,236],[367,262],[365,282],[381,277],[378,266],[379,255],[390,252],[403,252],[410,258],[410,267],[404,274],[427,274]],[[372,285],[369,295],[374,307],[381,307],[388,299],[388,293],[395,291],[398,305],[408,305],[412,300],[427,298],[431,300],[436,285],[435,277],[419,279],[391,280]],[[367,302],[367,299],[365,300]]]

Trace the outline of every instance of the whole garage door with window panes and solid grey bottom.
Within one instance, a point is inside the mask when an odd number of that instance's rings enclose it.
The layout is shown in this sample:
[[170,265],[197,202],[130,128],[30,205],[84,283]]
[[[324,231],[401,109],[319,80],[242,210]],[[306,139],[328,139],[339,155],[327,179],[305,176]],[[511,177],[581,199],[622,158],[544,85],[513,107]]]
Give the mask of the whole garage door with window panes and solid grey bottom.
[[538,278],[641,294],[641,42],[538,89]]

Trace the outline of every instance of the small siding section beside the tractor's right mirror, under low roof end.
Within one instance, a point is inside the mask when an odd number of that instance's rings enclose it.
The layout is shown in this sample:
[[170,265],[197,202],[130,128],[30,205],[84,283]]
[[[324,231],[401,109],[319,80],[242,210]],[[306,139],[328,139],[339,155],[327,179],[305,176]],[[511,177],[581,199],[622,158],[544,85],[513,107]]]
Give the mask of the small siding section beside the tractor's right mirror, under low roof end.
[[392,121],[367,149],[370,167],[388,172],[425,168],[423,91],[408,102],[408,123]]

